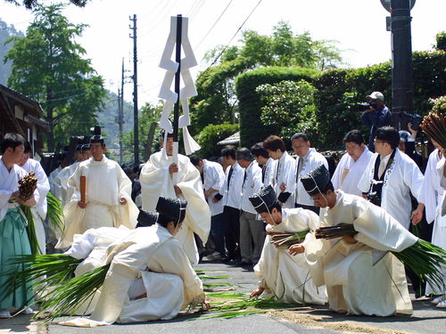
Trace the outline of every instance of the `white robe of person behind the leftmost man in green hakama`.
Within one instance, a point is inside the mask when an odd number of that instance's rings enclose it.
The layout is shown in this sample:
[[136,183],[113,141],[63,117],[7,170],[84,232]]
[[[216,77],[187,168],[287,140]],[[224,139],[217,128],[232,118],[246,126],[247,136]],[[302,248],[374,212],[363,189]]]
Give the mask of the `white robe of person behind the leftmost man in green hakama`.
[[45,174],[45,170],[35,159],[28,159],[25,165],[21,166],[29,172],[34,172],[37,178],[37,191],[34,191],[34,197],[37,200],[37,207],[31,208],[32,216],[34,217],[34,224],[36,225],[37,241],[41,254],[46,254],[46,237],[44,220],[46,218],[46,211],[48,210],[48,203],[46,195],[50,191],[50,183]]

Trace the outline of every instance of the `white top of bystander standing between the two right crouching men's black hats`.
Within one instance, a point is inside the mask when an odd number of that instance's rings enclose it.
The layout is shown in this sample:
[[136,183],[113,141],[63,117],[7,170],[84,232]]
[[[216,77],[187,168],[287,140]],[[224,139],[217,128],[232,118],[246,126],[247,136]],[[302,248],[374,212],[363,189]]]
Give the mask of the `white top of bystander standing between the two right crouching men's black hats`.
[[284,202],[284,208],[294,208],[294,191],[296,189],[296,160],[288,154],[287,151],[282,154],[280,159],[276,160],[276,166],[273,173],[273,188],[276,191],[277,198],[282,192],[280,184],[285,183],[285,191],[291,193],[290,197]]

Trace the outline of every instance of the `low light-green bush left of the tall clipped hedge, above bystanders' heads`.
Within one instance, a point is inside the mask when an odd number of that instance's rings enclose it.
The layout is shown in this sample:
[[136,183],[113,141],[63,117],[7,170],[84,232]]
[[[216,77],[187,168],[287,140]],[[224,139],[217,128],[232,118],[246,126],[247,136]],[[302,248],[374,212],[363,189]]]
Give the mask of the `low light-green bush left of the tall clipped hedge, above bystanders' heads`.
[[202,147],[197,154],[202,158],[219,157],[221,147],[219,141],[227,138],[238,131],[238,124],[210,124],[202,129],[200,134],[195,135],[195,140]]

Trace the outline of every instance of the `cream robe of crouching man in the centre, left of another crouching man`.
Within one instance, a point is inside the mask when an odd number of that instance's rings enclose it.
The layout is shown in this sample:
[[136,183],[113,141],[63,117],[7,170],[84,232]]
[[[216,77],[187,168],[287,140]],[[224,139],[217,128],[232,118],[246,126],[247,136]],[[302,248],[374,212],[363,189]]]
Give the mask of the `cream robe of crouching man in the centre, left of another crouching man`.
[[[286,215],[286,216],[285,216]],[[283,222],[267,225],[268,232],[302,232],[318,228],[318,215],[302,208],[283,208]],[[276,248],[267,235],[260,261],[254,266],[259,286],[274,293],[281,302],[290,304],[326,304],[325,287],[316,288],[304,254],[291,256],[288,249]]]

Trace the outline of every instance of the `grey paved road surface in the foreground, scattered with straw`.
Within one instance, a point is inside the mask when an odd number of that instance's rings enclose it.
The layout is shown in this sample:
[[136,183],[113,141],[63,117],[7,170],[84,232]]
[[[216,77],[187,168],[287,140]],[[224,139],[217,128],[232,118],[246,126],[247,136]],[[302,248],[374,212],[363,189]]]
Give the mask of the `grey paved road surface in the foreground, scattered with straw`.
[[[239,286],[237,291],[251,291],[257,287],[257,280],[252,269],[233,265],[204,262],[197,265],[197,270],[204,270],[209,275],[227,275],[229,280],[221,280]],[[210,280],[209,282],[219,282]],[[0,334],[12,332],[33,332],[38,334],[126,334],[126,333],[339,333],[367,332],[372,334],[390,333],[446,333],[446,309],[432,305],[427,298],[414,300],[414,314],[396,315],[392,317],[347,316],[330,312],[327,305],[315,306],[312,310],[287,311],[274,314],[252,314],[229,320],[207,319],[194,320],[190,315],[178,316],[164,322],[145,322],[133,324],[115,324],[93,329],[78,329],[59,326],[56,322],[49,325],[38,325],[29,321],[29,316],[20,315],[10,320],[0,320]],[[285,317],[285,319],[284,319]],[[61,318],[59,320],[62,320]]]

